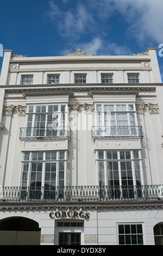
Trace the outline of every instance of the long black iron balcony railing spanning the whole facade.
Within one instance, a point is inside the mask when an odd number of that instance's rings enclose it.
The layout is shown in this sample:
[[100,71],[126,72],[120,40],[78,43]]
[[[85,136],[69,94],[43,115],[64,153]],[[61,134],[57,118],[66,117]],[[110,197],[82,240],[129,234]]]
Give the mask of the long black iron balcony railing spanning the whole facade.
[[0,187],[2,202],[163,200],[163,185]]

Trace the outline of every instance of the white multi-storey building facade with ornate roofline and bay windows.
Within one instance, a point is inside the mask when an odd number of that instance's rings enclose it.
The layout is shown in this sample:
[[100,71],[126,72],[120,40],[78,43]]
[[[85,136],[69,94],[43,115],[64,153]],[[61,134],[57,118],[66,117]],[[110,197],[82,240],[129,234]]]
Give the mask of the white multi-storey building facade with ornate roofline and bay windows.
[[4,50],[0,244],[163,244],[163,90],[134,56]]

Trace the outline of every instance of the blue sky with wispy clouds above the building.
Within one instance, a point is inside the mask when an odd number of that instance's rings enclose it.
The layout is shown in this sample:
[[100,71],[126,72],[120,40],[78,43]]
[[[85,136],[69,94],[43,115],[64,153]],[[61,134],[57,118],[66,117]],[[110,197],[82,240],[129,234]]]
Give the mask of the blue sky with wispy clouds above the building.
[[162,0],[0,0],[4,50],[36,57],[78,48],[95,55],[133,55],[156,47],[163,78],[162,24]]

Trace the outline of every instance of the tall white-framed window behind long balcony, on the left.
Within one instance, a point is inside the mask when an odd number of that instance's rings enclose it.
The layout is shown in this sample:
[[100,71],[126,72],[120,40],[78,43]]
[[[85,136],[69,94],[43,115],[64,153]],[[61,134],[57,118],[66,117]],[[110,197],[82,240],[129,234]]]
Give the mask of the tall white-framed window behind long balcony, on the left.
[[[62,197],[66,185],[67,151],[24,152],[22,155],[22,196],[30,199]],[[61,188],[57,194],[56,187]]]

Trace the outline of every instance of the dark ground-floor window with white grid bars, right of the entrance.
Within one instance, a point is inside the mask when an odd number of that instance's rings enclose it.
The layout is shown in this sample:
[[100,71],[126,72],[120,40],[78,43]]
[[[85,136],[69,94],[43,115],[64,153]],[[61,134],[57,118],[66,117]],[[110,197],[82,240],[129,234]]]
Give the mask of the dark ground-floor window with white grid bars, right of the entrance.
[[142,224],[118,224],[119,245],[143,245]]

